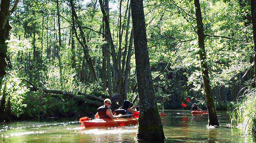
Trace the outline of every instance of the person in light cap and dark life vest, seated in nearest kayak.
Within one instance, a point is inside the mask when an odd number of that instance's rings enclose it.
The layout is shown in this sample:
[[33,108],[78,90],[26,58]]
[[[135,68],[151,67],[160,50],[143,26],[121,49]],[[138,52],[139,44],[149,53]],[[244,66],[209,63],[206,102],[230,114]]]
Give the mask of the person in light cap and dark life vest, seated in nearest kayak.
[[104,105],[98,108],[98,112],[95,114],[95,118],[110,118],[110,119],[117,119],[120,118],[122,115],[113,115],[112,111],[110,109],[111,107],[111,100],[110,99],[105,99],[104,100]]

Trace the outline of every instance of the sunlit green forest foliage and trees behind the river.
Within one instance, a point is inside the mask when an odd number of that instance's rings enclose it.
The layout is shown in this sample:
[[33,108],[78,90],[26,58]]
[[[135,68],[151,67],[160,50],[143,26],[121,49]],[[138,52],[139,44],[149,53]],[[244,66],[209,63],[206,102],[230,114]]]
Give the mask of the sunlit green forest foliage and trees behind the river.
[[[106,16],[113,45],[99,1],[71,1],[20,0],[10,16],[8,68],[0,98],[12,119],[78,116],[96,110],[42,89],[81,97],[78,92],[99,97],[118,93],[121,100],[131,101],[138,94],[129,1],[109,1]],[[254,78],[250,1],[200,4],[215,105],[217,110],[231,109]],[[158,108],[181,109],[187,97],[206,108],[193,1],[144,0],[144,13]],[[41,90],[31,91],[27,81]]]

